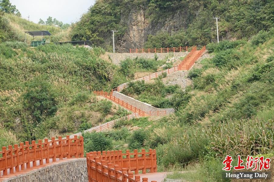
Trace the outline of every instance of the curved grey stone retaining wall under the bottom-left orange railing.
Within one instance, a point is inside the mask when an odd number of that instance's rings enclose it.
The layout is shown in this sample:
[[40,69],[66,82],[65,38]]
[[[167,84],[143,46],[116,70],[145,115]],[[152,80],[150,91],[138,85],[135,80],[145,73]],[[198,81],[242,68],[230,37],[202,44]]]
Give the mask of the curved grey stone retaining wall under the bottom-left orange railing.
[[20,172],[2,182],[87,182],[86,158],[67,159]]

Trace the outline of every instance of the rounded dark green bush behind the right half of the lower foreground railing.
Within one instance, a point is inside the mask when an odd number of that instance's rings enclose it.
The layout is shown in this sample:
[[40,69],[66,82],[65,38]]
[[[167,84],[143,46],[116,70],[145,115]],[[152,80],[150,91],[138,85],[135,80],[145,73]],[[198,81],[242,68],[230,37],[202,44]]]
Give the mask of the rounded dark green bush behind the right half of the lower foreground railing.
[[144,146],[148,133],[144,129],[135,130],[129,139],[128,147],[131,149],[139,149]]

